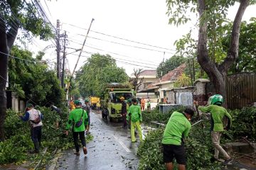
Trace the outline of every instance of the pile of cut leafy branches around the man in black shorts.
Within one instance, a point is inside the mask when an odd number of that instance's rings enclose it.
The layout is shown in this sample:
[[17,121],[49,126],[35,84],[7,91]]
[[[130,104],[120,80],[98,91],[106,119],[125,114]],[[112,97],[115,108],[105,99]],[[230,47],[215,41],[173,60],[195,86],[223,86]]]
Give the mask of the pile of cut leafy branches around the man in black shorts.
[[[206,121],[204,121],[206,122]],[[210,140],[210,123],[193,126],[186,139],[186,169],[220,169],[219,164],[210,162],[213,156],[213,147]],[[161,152],[161,140],[164,128],[149,132],[145,140],[139,145],[139,169],[165,169]]]

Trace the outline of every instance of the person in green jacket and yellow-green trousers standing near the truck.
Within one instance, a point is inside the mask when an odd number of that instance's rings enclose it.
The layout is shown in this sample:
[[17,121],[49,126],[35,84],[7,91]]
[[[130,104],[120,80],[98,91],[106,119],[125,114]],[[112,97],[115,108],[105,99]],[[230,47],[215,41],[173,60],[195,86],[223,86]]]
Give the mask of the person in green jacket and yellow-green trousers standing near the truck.
[[135,138],[135,128],[139,132],[139,140],[142,141],[142,128],[140,123],[142,123],[142,110],[137,104],[137,98],[132,98],[132,106],[129,106],[129,111],[127,114],[127,120],[131,123],[131,140],[136,142]]

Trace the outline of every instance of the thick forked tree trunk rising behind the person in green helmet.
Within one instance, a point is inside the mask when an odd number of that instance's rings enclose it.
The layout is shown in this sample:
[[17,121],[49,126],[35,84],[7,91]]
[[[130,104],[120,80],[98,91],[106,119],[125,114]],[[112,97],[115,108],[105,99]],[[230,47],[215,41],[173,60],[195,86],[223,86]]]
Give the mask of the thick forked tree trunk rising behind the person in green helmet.
[[227,77],[228,69],[238,58],[238,45],[239,45],[239,33],[242,16],[245,13],[245,9],[249,5],[249,0],[240,0],[240,6],[233,22],[233,30],[231,35],[230,48],[228,50],[228,56],[225,58],[222,64],[216,65],[213,61],[210,61],[208,56],[207,47],[207,21],[203,17],[205,15],[206,4],[204,0],[198,0],[198,13],[200,19],[199,33],[198,33],[198,62],[203,70],[208,74],[210,81],[213,82],[215,87],[215,93],[221,94],[224,98],[224,106],[226,104],[226,85],[225,79]]

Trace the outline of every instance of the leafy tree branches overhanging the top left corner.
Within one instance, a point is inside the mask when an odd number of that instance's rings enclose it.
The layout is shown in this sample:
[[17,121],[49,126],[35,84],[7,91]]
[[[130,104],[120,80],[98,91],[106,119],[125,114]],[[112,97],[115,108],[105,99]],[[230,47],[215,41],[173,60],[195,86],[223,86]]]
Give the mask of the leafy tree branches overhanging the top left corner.
[[[53,38],[52,26],[43,21],[40,14],[36,12],[36,6],[31,1],[6,1],[0,7],[1,11],[4,11],[3,17],[8,26],[7,33],[13,34],[14,30],[21,29],[21,36],[25,38],[32,38],[32,35],[39,36],[43,40]],[[18,21],[14,18],[17,18]]]

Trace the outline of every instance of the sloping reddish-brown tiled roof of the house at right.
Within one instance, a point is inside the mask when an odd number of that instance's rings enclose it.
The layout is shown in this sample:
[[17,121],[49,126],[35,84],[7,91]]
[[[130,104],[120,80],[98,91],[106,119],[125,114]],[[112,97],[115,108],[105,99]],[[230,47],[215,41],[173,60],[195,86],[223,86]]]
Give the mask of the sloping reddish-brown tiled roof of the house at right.
[[167,74],[164,74],[164,76],[161,77],[161,79],[159,78],[153,83],[146,86],[146,88],[143,89],[142,91],[146,91],[149,89],[156,89],[158,88],[157,84],[165,84],[165,83],[176,81],[176,79],[178,79],[178,77],[181,76],[181,74],[184,72],[185,68],[186,68],[186,64],[181,64],[179,67],[176,67],[176,69],[173,69]]

